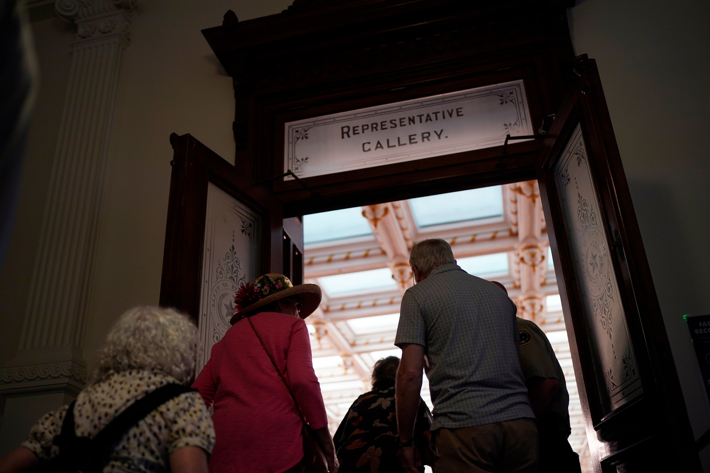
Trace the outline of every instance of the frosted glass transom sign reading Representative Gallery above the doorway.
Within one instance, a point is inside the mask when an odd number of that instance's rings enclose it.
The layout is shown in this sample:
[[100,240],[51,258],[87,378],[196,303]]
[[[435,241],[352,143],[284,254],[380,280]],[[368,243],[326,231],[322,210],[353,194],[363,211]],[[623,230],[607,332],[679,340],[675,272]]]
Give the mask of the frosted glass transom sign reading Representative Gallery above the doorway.
[[299,177],[420,160],[532,135],[523,81],[285,124],[284,171]]

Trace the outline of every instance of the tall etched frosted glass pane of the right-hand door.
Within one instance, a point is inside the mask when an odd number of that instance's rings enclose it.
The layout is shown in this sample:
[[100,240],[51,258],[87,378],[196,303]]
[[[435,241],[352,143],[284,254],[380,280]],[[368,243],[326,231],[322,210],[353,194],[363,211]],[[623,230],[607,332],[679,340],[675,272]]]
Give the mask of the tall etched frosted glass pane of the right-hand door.
[[597,375],[603,377],[600,385],[606,386],[608,411],[613,411],[643,390],[579,124],[552,171],[584,317],[592,328]]

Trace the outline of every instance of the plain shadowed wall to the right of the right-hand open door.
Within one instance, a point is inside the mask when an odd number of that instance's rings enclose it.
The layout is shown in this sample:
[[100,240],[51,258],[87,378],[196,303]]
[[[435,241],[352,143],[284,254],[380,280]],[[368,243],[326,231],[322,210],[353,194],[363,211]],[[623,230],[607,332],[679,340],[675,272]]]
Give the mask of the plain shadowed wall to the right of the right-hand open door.
[[[709,20],[701,0],[586,0],[569,10],[575,52],[599,66],[696,438],[710,428],[710,404],[682,316],[710,313]],[[710,448],[701,459],[710,471]]]

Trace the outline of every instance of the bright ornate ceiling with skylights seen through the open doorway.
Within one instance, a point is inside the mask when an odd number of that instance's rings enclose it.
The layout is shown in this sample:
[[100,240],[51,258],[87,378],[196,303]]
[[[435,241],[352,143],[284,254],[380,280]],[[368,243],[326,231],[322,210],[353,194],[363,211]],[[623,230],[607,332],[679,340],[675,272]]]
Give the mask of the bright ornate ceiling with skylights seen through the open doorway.
[[[504,284],[518,316],[547,334],[569,392],[569,443],[582,471],[594,471],[537,181],[312,213],[303,232],[305,282],[323,289],[307,325],[333,433],[371,389],[374,362],[401,356],[393,343],[401,298],[413,285],[409,250],[443,238],[462,269]],[[432,408],[426,377],[421,395]]]

